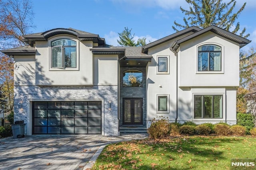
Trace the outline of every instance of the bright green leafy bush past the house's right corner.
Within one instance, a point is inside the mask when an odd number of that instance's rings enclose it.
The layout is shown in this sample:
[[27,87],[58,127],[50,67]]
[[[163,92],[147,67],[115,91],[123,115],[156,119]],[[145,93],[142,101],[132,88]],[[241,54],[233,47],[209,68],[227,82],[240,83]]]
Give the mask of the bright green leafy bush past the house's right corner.
[[254,116],[252,114],[237,113],[236,121],[237,125],[246,128],[246,134],[250,134],[250,130],[254,128]]

